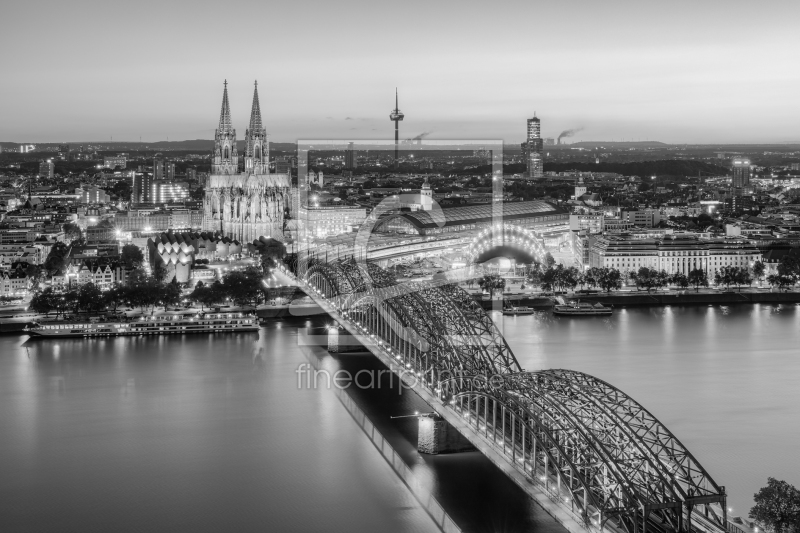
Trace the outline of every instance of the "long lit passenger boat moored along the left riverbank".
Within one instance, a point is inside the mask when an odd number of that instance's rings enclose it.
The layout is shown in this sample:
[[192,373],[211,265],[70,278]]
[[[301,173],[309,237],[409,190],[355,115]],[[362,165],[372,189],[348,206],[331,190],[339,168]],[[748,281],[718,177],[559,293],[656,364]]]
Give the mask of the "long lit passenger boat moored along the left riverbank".
[[117,337],[120,335],[174,335],[182,333],[240,333],[258,331],[255,315],[246,313],[201,313],[157,315],[127,321],[61,321],[34,323],[25,328],[35,337]]

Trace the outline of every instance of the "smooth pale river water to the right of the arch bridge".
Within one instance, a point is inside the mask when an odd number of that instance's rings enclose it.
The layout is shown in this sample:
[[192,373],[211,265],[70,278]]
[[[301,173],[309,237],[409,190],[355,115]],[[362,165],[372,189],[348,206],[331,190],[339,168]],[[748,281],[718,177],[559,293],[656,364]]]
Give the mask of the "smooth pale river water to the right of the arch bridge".
[[726,486],[734,514],[768,476],[800,485],[800,306],[503,318],[526,370],[579,370],[642,403]]

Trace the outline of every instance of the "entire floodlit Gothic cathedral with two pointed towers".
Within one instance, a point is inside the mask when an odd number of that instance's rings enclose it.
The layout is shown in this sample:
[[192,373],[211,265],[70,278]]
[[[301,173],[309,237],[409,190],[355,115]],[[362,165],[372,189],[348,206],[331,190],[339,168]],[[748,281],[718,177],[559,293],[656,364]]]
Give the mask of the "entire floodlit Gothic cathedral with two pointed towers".
[[203,229],[220,231],[240,243],[253,242],[259,237],[283,241],[284,211],[291,205],[291,183],[291,175],[269,171],[269,137],[261,121],[257,82],[250,125],[244,134],[244,170],[239,169],[226,81],[219,128],[214,134],[211,174],[206,181]]

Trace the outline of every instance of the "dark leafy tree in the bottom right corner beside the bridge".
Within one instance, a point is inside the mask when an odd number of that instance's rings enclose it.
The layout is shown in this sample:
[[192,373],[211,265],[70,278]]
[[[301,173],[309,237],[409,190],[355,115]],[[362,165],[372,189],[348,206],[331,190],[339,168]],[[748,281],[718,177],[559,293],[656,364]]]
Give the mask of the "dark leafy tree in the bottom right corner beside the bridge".
[[790,533],[800,530],[800,490],[775,478],[767,479],[754,496],[750,518],[766,531]]

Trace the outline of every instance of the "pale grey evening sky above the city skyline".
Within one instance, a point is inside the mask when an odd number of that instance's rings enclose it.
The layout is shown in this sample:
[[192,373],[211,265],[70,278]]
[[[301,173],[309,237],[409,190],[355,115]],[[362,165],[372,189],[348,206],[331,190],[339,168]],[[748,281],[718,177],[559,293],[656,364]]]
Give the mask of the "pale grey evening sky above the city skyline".
[[800,142],[796,0],[26,0],[0,16],[0,141]]

